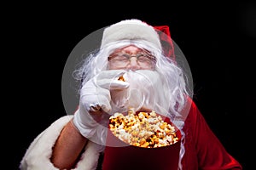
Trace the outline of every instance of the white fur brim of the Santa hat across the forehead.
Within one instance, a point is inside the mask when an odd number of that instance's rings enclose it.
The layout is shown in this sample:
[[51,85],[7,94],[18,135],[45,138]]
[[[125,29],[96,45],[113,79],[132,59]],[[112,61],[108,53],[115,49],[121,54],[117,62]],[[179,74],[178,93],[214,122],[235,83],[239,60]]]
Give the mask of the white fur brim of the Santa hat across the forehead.
[[145,40],[152,42],[155,48],[161,49],[159,34],[153,26],[149,26],[142,20],[122,20],[108,26],[103,32],[101,48],[119,40]]

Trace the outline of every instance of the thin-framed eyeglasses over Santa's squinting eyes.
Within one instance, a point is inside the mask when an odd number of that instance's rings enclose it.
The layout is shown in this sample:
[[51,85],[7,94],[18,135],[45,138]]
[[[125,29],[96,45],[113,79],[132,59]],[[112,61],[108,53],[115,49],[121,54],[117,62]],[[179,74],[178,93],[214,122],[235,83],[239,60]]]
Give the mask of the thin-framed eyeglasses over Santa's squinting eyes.
[[110,57],[108,57],[108,61],[112,62],[114,65],[117,65],[117,66],[126,66],[131,62],[132,57],[137,58],[137,64],[143,68],[152,67],[156,62],[154,55],[145,54],[145,53],[139,53],[139,54],[117,53],[117,54],[110,55]]

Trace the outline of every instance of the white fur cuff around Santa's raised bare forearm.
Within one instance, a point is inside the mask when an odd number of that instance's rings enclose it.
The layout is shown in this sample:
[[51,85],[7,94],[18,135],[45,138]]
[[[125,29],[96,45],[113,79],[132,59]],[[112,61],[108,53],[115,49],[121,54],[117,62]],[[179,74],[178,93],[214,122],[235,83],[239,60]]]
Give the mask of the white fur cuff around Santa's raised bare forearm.
[[[73,116],[62,116],[40,133],[20,161],[20,170],[58,170],[59,168],[54,167],[49,159],[62,128],[72,118]],[[99,145],[89,141],[74,170],[95,170],[99,159],[98,150]]]

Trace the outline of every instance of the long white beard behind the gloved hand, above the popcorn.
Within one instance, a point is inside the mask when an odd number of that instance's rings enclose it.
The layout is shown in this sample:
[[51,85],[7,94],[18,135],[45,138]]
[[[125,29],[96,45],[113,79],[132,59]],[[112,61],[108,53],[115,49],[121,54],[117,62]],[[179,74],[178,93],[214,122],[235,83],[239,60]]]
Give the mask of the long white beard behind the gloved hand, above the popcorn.
[[125,112],[132,107],[135,111],[143,108],[166,116],[170,107],[166,77],[149,70],[127,71],[123,77],[130,86],[111,91],[113,112]]

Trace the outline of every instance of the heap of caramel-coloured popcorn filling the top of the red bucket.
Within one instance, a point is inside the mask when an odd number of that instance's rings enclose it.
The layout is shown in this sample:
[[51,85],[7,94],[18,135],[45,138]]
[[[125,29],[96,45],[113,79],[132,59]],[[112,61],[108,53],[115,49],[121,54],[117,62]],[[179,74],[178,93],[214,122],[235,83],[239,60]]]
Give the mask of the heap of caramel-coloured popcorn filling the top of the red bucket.
[[118,139],[143,148],[167,146],[179,140],[175,127],[164,122],[154,111],[136,113],[131,108],[126,116],[114,113],[109,117],[109,128]]

